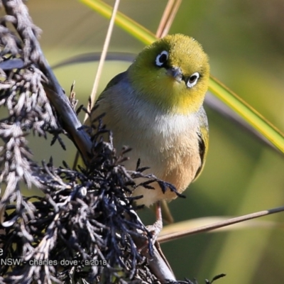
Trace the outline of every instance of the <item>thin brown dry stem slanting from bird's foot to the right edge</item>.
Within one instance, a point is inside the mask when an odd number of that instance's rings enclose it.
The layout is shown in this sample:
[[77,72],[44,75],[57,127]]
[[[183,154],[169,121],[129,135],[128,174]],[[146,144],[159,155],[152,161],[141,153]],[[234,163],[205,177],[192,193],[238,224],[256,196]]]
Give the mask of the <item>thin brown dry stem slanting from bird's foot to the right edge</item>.
[[217,222],[217,223],[206,225],[206,226],[200,226],[199,228],[196,228],[196,229],[190,229],[190,230],[187,230],[187,231],[182,231],[182,232],[178,232],[178,233],[168,234],[166,236],[161,236],[160,238],[158,238],[158,241],[161,244],[163,244],[167,241],[173,241],[173,240],[181,239],[185,236],[190,236],[190,235],[202,233],[202,232],[205,232],[205,231],[212,231],[214,229],[219,229],[219,228],[222,228],[224,226],[229,226],[229,225],[236,224],[236,223],[239,223],[239,222],[244,222],[244,221],[247,221],[247,220],[256,219],[256,218],[259,218],[259,217],[263,217],[263,216],[266,216],[266,215],[275,214],[275,213],[283,212],[283,211],[284,211],[284,206],[273,208],[273,209],[268,209],[268,210],[263,210],[263,211],[259,211],[259,212],[252,213],[252,214],[246,214],[246,215],[243,215],[243,216],[240,216],[240,217],[228,219],[226,221]]

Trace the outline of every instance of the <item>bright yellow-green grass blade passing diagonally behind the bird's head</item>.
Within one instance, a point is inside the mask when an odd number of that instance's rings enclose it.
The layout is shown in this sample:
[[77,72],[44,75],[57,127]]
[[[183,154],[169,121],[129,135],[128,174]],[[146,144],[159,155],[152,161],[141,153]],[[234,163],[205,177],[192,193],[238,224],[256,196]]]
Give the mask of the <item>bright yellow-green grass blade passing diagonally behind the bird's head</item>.
[[[111,17],[112,7],[105,4],[101,0],[79,0],[89,8],[97,11],[102,16],[107,18]],[[119,12],[116,16],[116,24],[133,35],[146,45],[153,43],[156,39],[155,35],[148,31],[143,26],[139,25],[131,18],[125,16]],[[248,103],[244,102],[234,92],[231,92],[224,84],[211,76],[209,82],[209,91],[215,94],[219,99],[227,104],[231,109],[236,111],[241,117],[243,117],[254,129],[259,131],[264,137],[271,141],[273,145],[284,153],[284,134],[281,133],[273,124],[259,114]]]

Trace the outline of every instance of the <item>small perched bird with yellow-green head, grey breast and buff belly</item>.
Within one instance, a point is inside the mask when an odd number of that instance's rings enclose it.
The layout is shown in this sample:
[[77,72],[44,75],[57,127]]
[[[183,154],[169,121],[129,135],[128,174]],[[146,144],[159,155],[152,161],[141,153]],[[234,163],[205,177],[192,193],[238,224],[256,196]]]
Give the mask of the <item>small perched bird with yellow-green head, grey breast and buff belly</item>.
[[[203,168],[208,146],[207,116],[202,107],[209,82],[209,62],[200,43],[186,35],[167,35],[148,45],[125,72],[102,92],[94,115],[103,117],[114,146],[129,146],[126,169],[138,158],[146,173],[183,192]],[[137,204],[173,200],[175,192],[137,187]],[[159,212],[159,211],[158,211]],[[161,226],[161,216],[158,213]],[[160,228],[161,229],[161,228]]]

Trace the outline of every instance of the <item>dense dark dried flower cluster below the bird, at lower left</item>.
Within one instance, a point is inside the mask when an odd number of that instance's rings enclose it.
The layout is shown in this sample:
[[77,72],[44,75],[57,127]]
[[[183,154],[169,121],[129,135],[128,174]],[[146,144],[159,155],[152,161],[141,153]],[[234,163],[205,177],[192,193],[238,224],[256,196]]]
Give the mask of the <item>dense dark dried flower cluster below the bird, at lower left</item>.
[[122,283],[121,278],[153,282],[153,275],[145,274],[147,260],[133,242],[142,238],[151,246],[151,235],[128,197],[133,177],[143,174],[139,169],[127,172],[111,143],[99,141],[92,150],[94,158],[80,170],[66,164],[56,168],[52,160],[30,167],[44,195],[21,196],[21,201],[6,206],[1,257],[21,259],[1,263],[6,283]]

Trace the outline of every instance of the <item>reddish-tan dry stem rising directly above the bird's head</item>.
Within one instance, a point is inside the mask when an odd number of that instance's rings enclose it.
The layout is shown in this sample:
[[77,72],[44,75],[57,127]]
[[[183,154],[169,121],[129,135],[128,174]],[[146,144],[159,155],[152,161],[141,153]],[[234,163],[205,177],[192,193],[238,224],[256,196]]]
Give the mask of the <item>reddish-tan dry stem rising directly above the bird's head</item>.
[[155,34],[157,38],[163,38],[168,34],[170,26],[172,26],[175,15],[178,12],[182,0],[168,0],[168,4],[165,7],[163,17],[160,20],[157,33]]

